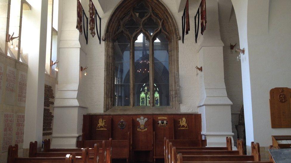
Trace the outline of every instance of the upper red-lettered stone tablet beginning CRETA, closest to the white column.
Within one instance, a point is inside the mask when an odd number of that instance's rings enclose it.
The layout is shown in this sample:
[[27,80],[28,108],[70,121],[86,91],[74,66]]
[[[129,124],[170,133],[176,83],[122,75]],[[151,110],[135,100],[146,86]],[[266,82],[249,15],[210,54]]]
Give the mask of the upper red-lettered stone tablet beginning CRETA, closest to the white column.
[[17,93],[17,105],[18,106],[25,107],[26,86],[27,86],[27,73],[19,71],[19,74],[18,74],[18,93]]

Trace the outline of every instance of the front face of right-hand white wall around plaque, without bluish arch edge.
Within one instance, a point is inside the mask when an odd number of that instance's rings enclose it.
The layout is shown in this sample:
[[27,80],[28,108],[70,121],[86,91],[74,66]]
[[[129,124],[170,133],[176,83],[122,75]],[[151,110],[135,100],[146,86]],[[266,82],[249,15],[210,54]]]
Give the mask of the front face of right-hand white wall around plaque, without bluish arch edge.
[[247,27],[254,137],[261,146],[272,143],[271,135],[291,133],[290,128],[271,128],[269,106],[270,89],[291,88],[291,1],[270,0],[266,5],[249,1]]

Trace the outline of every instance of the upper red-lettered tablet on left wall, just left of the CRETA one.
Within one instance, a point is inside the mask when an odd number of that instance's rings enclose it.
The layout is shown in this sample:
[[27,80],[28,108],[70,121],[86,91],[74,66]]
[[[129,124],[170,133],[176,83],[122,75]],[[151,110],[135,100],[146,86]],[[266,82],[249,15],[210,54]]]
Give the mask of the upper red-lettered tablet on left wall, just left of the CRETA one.
[[13,67],[7,66],[5,90],[5,102],[8,105],[15,105],[16,69]]

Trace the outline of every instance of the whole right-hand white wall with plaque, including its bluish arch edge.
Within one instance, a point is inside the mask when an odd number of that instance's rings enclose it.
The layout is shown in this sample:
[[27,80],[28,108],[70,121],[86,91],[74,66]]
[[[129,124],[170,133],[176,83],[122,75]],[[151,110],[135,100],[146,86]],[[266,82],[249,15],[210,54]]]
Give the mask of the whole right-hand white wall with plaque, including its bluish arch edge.
[[272,143],[271,135],[291,129],[272,129],[269,91],[291,86],[291,1],[232,0],[238,22],[247,145]]

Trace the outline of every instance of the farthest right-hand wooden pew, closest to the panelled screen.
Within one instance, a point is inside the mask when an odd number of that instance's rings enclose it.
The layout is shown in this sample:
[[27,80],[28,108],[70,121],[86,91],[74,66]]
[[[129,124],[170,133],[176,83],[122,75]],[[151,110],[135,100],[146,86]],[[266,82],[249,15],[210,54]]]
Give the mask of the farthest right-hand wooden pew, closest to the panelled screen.
[[[171,141],[171,143],[170,143]],[[176,140],[177,142],[181,141],[181,140]],[[165,163],[172,163],[172,147],[175,146],[177,150],[206,150],[206,151],[219,151],[219,150],[225,150],[225,151],[232,151],[232,143],[231,143],[231,138],[230,137],[226,137],[226,147],[197,147],[197,146],[189,146],[189,145],[184,145],[181,143],[177,143],[174,142],[173,145],[173,141],[172,140],[167,140],[166,138],[164,138],[164,153],[165,153]],[[171,147],[170,147],[171,144]]]

